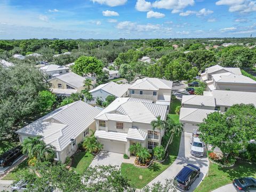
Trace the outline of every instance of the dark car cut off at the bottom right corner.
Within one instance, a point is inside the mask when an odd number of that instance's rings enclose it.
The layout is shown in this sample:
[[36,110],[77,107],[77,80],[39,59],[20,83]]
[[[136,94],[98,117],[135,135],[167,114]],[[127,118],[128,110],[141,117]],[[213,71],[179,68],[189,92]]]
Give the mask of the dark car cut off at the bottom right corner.
[[238,192],[256,191],[256,179],[255,178],[234,179],[233,186]]

